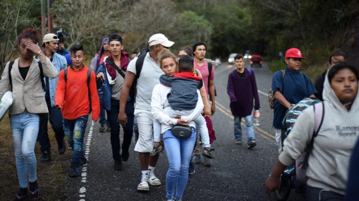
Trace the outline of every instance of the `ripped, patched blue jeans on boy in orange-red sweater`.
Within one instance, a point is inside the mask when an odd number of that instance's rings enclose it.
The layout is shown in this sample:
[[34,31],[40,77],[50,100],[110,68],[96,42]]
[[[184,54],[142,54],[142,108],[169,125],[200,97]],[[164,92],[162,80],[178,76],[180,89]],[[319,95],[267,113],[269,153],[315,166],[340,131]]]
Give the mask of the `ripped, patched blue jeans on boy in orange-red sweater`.
[[84,151],[84,137],[88,117],[88,115],[85,115],[73,120],[64,119],[65,138],[74,152],[71,163],[74,163],[76,167],[80,167],[81,156]]

